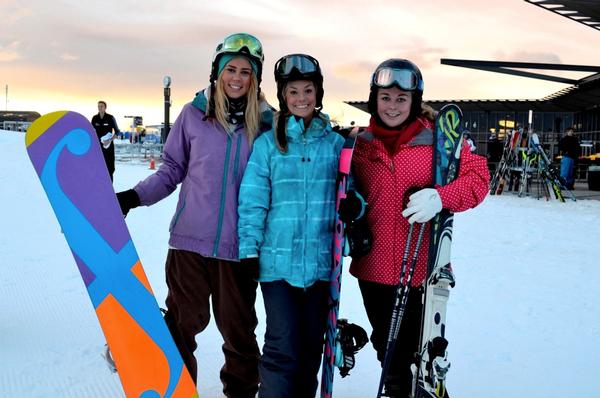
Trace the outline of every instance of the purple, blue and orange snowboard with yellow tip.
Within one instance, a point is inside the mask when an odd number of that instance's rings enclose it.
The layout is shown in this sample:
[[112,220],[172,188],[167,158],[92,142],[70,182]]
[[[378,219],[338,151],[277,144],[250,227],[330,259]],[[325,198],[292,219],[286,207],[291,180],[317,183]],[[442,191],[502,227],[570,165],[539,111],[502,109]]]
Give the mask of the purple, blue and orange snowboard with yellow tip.
[[197,397],[136,253],[96,133],[74,112],[37,119],[27,152],[96,310],[127,397]]

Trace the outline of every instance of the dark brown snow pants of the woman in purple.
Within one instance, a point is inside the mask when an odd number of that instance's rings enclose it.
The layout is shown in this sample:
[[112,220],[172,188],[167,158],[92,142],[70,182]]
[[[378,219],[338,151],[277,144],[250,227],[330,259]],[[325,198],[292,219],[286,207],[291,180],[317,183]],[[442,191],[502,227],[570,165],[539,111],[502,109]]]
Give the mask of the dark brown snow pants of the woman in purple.
[[196,335],[210,321],[210,299],[223,336],[223,392],[230,398],[254,397],[258,391],[260,352],[254,330],[257,283],[241,272],[238,262],[169,249],[166,263],[169,292],[165,316],[186,367],[196,381]]

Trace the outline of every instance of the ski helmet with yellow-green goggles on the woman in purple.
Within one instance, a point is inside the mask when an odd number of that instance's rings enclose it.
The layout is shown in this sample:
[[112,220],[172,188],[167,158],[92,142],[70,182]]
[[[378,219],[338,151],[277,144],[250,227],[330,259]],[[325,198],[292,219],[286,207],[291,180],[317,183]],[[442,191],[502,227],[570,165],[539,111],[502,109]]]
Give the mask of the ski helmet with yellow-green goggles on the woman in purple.
[[227,36],[217,45],[210,70],[211,85],[214,85],[219,77],[219,61],[226,54],[243,55],[252,61],[256,65],[256,80],[260,86],[265,55],[263,53],[262,44],[256,37],[248,33],[234,33]]

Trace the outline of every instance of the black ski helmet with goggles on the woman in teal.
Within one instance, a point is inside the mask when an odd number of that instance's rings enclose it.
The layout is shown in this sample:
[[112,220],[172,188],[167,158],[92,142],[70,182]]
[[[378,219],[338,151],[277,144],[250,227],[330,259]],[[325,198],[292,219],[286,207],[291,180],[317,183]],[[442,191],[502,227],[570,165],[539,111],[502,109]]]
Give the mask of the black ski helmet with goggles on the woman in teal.
[[323,108],[323,74],[319,61],[306,54],[289,54],[281,57],[275,63],[275,81],[277,82],[277,99],[279,110],[287,112],[288,108],[283,97],[285,85],[295,80],[309,80],[317,90],[316,109]]

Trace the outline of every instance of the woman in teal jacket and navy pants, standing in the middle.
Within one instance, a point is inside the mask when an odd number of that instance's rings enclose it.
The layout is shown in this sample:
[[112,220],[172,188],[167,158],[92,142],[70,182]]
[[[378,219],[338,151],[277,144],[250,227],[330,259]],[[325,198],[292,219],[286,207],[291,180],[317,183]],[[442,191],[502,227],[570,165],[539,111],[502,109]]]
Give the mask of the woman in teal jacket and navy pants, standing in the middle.
[[256,140],[240,188],[240,260],[259,264],[267,315],[259,397],[314,397],[344,140],[320,112],[317,60],[287,55],[275,65],[275,80],[275,128]]

